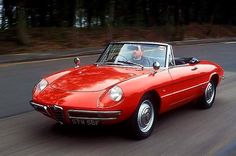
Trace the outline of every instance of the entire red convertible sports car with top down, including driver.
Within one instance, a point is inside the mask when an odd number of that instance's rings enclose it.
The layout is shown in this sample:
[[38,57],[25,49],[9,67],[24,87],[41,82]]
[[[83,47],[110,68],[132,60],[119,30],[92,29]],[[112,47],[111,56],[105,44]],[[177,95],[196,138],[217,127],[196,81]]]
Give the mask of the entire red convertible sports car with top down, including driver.
[[97,62],[43,78],[30,104],[61,124],[127,123],[137,139],[148,137],[158,115],[198,100],[210,108],[224,77],[216,63],[175,58],[157,42],[112,42]]

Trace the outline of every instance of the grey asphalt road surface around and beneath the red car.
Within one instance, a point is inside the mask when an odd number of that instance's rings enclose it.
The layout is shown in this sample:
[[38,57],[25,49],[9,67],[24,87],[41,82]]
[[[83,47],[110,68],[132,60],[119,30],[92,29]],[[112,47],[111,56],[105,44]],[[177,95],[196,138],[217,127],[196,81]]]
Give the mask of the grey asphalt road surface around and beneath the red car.
[[[162,115],[153,134],[129,139],[121,126],[64,128],[32,111],[28,101],[41,77],[73,66],[73,59],[0,66],[0,155],[236,155],[236,44],[174,47],[176,56],[212,60],[225,69],[212,109],[184,106]],[[97,55],[81,57],[93,63]]]

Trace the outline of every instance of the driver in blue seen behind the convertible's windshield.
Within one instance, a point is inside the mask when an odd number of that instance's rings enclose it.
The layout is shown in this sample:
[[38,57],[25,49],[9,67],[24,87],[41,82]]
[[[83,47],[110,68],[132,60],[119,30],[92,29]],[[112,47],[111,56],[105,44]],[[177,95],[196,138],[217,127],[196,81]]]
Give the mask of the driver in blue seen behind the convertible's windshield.
[[141,64],[144,67],[150,67],[151,63],[148,58],[143,56],[143,50],[141,45],[135,46],[134,52],[132,54],[132,62]]

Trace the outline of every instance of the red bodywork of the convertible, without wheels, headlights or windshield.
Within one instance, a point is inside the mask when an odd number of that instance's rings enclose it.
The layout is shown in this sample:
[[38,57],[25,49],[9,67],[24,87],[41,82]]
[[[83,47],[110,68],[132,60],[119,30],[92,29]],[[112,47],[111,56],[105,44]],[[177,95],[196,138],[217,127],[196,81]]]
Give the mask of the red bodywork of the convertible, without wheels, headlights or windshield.
[[[171,50],[170,46],[167,54],[173,55]],[[200,98],[208,83],[213,80],[217,86],[223,75],[219,65],[204,60],[174,64],[158,70],[152,67],[93,64],[45,77],[47,87],[42,91],[35,87],[31,104],[37,111],[61,123],[72,124],[72,119],[78,118],[114,124],[128,120],[147,93],[155,96],[155,109],[161,114]],[[123,91],[118,102],[108,95],[114,86],[119,86]]]

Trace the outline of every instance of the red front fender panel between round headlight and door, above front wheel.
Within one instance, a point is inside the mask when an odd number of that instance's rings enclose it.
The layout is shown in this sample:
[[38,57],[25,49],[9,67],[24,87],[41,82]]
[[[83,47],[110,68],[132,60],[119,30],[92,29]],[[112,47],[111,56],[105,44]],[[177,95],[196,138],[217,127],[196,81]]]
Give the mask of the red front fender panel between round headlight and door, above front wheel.
[[154,90],[161,96],[163,93],[161,90],[168,86],[170,82],[171,77],[168,70],[162,70],[156,74],[150,72],[149,74],[124,81],[118,84],[124,92],[124,99],[120,106],[126,108],[128,116],[131,116],[145,93]]

